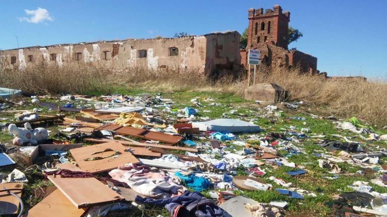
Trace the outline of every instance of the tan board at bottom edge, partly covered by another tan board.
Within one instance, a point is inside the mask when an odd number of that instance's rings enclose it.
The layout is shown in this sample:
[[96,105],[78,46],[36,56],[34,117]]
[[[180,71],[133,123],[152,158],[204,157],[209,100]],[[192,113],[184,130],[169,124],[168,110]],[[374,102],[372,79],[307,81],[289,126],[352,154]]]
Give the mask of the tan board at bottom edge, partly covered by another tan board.
[[87,208],[76,208],[59,189],[56,189],[28,210],[24,217],[77,217],[82,216],[86,210]]

